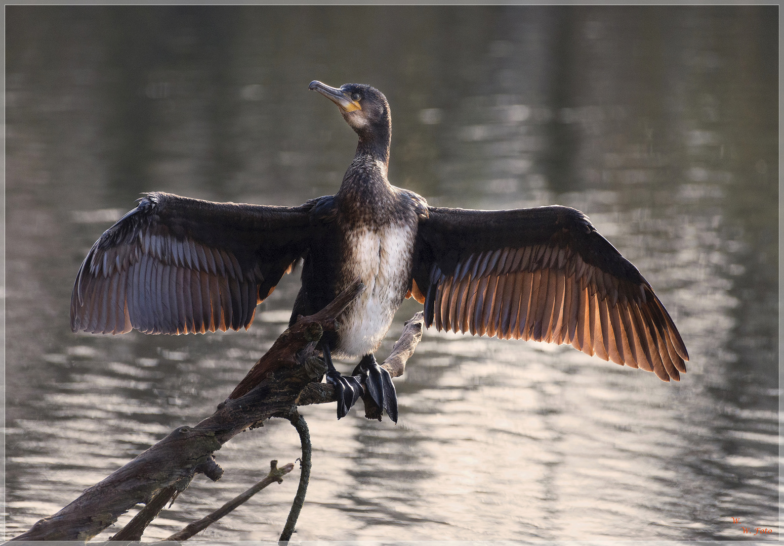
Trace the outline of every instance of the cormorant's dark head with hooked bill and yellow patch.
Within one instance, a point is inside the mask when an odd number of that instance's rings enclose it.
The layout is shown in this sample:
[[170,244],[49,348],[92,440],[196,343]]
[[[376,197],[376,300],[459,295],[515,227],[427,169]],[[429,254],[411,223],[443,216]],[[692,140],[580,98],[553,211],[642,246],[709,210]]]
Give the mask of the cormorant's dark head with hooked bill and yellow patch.
[[370,85],[347,83],[335,88],[317,80],[311,81],[308,89],[320,92],[336,103],[343,119],[359,136],[368,132],[376,134],[387,132],[390,128],[390,107],[387,97]]

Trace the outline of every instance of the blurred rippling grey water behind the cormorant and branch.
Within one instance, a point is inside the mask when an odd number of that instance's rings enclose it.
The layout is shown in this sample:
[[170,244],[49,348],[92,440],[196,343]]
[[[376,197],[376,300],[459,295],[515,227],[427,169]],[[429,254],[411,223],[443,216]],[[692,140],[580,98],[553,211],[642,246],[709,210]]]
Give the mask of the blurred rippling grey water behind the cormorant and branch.
[[[6,41],[8,537],[211,414],[285,328],[296,276],[241,333],[72,334],[69,298],[140,192],[334,193],[356,137],[313,79],[387,95],[390,180],[430,204],[586,212],[691,362],[665,384],[426,331],[397,425],[303,408],[296,539],[743,537],[732,518],[778,536],[777,6],[16,5]],[[223,479],[199,475],[145,537],[298,455],[285,421],[241,434],[216,454]],[[275,540],[298,475],[200,537]]]

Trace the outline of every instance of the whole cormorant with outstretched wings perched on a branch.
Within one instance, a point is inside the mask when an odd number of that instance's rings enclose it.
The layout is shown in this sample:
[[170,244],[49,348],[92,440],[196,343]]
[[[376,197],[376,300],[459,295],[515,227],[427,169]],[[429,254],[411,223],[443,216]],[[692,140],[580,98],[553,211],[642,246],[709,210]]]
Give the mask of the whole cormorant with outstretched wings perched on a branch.
[[71,296],[71,329],[120,334],[238,330],[303,258],[291,324],[318,312],[361,277],[367,289],[322,338],[338,418],[361,396],[331,355],[358,367],[397,422],[378,349],[404,298],[425,324],[570,343],[604,360],[679,380],[688,360],[673,320],[637,268],[582,212],[550,206],[505,211],[430,207],[387,179],[391,118],[378,89],[309,89],[339,107],[359,143],[335,195],[299,207],[212,203],[148,193],[90,249]]

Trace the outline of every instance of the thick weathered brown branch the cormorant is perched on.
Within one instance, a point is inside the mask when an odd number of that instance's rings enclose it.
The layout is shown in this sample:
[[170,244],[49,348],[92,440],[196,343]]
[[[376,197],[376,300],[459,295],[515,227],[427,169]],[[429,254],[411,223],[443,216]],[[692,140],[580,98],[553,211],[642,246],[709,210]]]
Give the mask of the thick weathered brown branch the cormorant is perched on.
[[[136,504],[151,503],[162,490],[171,486],[178,492],[184,490],[196,473],[203,473],[213,481],[219,479],[222,469],[212,454],[239,432],[256,428],[271,417],[288,418],[297,405],[335,401],[332,385],[312,382],[323,374],[323,364],[314,359],[315,346],[324,331],[335,329],[336,317],[364,290],[364,285],[357,281],[325,309],[301,318],[283,332],[234,389],[232,396],[220,403],[209,418],[194,427],[176,428],[85,490],[60,512],[39,520],[11,540],[89,541]],[[383,363],[393,377],[403,373],[405,362],[421,334],[419,313],[406,323],[401,339]],[[380,418],[378,408],[378,415],[372,411],[368,413],[368,407],[375,407],[372,400],[365,400],[365,403],[369,403],[366,414]],[[153,512],[154,508],[152,506],[148,512]],[[147,517],[140,520],[140,525],[146,526],[143,519]]]

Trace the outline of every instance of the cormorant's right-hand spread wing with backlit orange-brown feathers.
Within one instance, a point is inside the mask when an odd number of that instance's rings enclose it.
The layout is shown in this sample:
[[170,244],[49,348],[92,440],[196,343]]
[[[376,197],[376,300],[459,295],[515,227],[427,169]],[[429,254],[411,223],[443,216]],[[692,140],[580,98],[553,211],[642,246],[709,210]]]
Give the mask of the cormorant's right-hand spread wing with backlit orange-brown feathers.
[[430,208],[420,222],[413,292],[426,326],[568,343],[678,381],[688,353],[650,284],[566,207]]

